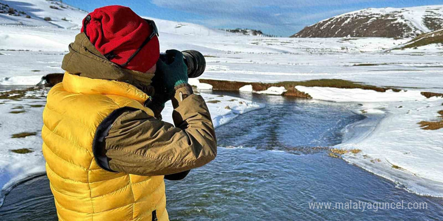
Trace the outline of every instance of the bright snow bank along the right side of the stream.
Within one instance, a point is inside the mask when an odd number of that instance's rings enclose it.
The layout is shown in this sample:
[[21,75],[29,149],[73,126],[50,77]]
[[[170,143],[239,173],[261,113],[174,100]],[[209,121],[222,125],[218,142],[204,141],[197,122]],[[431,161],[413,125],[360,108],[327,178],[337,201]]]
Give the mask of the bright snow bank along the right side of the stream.
[[362,104],[368,117],[346,127],[342,149],[359,149],[343,159],[390,179],[408,191],[443,197],[443,130],[423,130],[421,121],[437,121],[443,97],[426,98],[418,90],[376,92],[362,89],[303,87],[314,99]]

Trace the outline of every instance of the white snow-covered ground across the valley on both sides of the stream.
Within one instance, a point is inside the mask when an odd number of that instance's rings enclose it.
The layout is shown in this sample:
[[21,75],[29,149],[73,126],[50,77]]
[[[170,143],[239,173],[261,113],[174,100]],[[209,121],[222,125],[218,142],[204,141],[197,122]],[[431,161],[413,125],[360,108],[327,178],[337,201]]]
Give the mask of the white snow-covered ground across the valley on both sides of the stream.
[[[0,85],[34,85],[43,75],[62,73],[60,65],[67,45],[79,33],[81,18],[87,13],[73,8],[53,12],[48,5],[50,1],[44,0],[8,3],[22,6],[32,18],[24,22],[23,17],[0,14]],[[44,21],[48,15],[54,21]],[[64,17],[71,22],[61,20]],[[339,145],[362,152],[356,156],[346,155],[345,160],[402,183],[411,191],[443,196],[443,170],[439,160],[443,154],[443,130],[425,131],[417,125],[420,121],[435,119],[437,111],[443,109],[441,98],[420,95],[420,91],[443,93],[441,44],[385,51],[411,39],[240,36],[190,23],[154,20],[160,30],[161,51],[195,49],[206,56],[206,71],[201,78],[246,82],[339,78],[408,90],[381,93],[297,87],[314,99],[363,104],[364,111],[360,114],[368,116],[367,120],[348,127],[345,136],[348,139]],[[200,89],[211,88],[197,79],[191,83]],[[252,87],[247,85],[242,90],[252,91]],[[282,88],[269,88],[266,92],[282,91]],[[239,98],[203,96],[213,100],[208,105],[216,125],[259,107]],[[42,107],[31,108],[30,102],[44,102],[44,99],[8,100],[0,104],[0,168],[8,171],[0,176],[0,187],[14,177],[24,176],[20,171],[33,173],[43,169],[38,137]],[[23,105],[27,112],[10,114],[14,105]],[[168,107],[164,117],[171,111]],[[38,134],[11,138],[12,134],[24,131]],[[34,152],[27,154],[25,160],[22,155],[10,152],[18,148],[31,148]]]

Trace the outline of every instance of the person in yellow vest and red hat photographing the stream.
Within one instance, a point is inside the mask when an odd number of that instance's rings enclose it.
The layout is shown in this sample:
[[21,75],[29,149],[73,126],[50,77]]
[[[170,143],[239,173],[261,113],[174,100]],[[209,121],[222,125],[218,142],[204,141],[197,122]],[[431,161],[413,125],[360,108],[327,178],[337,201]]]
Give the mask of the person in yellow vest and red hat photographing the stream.
[[[169,220],[164,178],[215,158],[205,101],[188,84],[181,52],[159,60],[158,35],[154,21],[108,6],[90,13],[69,45],[43,111],[59,220]],[[161,120],[169,99],[175,127]]]

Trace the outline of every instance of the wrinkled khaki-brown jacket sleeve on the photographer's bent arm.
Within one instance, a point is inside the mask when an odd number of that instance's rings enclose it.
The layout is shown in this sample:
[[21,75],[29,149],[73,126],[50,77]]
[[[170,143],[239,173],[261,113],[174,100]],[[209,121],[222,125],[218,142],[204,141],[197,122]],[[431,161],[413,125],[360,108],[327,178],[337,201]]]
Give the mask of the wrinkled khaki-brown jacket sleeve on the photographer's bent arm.
[[110,170],[167,175],[215,158],[216,138],[206,103],[186,89],[177,89],[173,98],[175,127],[141,110],[125,112],[114,121],[103,140]]

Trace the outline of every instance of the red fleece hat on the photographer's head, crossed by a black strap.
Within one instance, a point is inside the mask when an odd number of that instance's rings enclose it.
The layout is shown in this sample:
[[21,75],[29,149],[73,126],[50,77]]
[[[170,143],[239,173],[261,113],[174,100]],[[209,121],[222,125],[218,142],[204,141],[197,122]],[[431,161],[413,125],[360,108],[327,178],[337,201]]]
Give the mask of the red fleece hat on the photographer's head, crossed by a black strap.
[[[94,10],[83,20],[82,27],[82,32],[100,53],[119,65],[124,64],[153,31],[146,21],[123,6]],[[156,64],[159,56],[159,39],[154,36],[124,68],[146,72]]]

